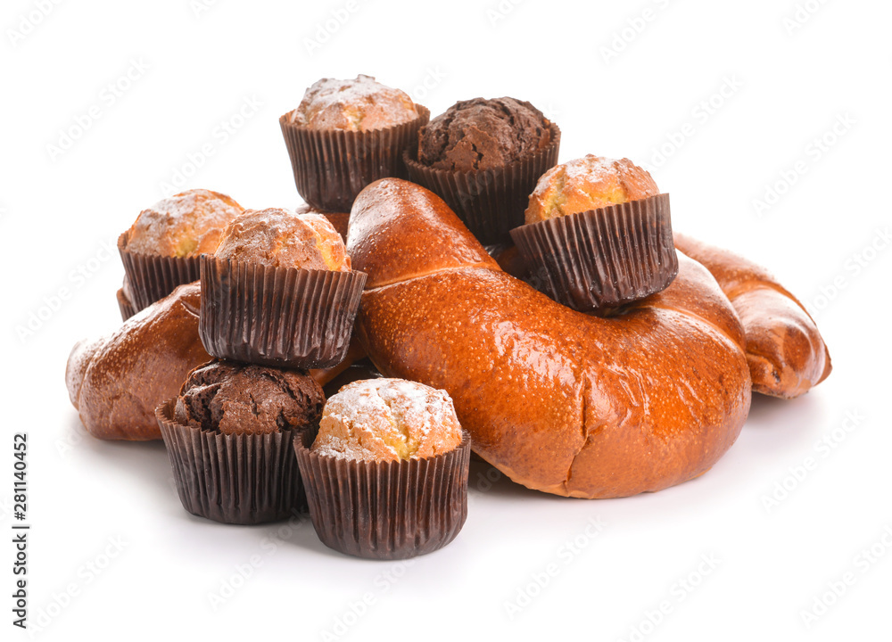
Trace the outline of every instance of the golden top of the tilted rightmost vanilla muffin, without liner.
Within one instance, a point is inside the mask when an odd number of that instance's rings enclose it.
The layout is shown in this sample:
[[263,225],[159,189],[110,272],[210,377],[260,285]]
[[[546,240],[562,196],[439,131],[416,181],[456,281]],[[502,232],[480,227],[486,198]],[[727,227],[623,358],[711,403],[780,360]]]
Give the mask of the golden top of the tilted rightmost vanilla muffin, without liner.
[[610,205],[640,201],[659,194],[646,169],[629,159],[615,161],[589,154],[557,165],[539,179],[530,195],[529,225]]

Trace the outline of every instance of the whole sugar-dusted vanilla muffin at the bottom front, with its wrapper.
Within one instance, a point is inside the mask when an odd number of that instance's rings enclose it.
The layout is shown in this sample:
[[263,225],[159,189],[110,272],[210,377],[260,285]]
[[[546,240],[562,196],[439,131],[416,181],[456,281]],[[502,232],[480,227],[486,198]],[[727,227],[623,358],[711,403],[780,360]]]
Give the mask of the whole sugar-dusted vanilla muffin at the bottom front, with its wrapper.
[[471,437],[445,391],[402,379],[348,383],[294,452],[327,547],[405,559],[446,546],[465,523]]

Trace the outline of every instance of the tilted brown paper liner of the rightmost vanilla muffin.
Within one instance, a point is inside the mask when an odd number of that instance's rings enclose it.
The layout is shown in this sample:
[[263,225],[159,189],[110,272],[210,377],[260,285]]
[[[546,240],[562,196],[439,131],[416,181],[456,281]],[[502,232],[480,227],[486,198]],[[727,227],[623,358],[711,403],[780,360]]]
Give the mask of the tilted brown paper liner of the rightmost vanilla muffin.
[[678,274],[667,193],[520,226],[511,237],[533,282],[578,310],[643,299]]

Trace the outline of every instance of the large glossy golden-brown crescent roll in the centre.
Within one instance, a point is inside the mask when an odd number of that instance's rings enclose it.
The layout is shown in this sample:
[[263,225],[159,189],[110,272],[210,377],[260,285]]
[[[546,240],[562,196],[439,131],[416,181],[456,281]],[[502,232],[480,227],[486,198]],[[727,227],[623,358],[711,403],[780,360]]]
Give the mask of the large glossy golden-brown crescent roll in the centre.
[[369,357],[449,392],[475,452],[529,488],[660,490],[714,465],[747,417],[743,330],[693,260],[622,317],[590,317],[502,272],[445,203],[398,179],[359,194],[348,246],[369,276]]

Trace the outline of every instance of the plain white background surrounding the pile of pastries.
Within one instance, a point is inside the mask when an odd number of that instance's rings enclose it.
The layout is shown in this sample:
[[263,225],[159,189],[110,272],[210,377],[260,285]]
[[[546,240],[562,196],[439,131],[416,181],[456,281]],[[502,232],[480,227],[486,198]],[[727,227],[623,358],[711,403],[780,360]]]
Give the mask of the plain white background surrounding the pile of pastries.
[[[345,620],[338,639],[889,639],[892,6],[800,4],[810,11],[791,23],[794,0],[355,0],[353,11],[345,0],[220,0],[198,14],[189,0],[110,0],[46,15],[36,0],[6,0],[0,528],[8,541],[12,433],[27,431],[37,638],[317,640]],[[332,12],[349,17],[321,33]],[[677,230],[771,268],[814,310],[830,379],[794,401],[757,397],[711,472],[657,494],[570,500],[505,480],[487,490],[489,469],[474,465],[464,530],[413,564],[336,555],[306,523],[280,537],[277,525],[186,514],[161,443],[90,438],[65,391],[73,343],[120,324],[123,272],[108,248],[206,144],[213,155],[186,187],[296,205],[277,117],[318,78],[357,73],[434,114],[477,95],[529,100],[562,128],[562,161],[595,152],[648,165],[672,193]],[[110,83],[126,88],[113,95]],[[262,105],[224,140],[221,122],[246,100]],[[87,131],[54,152],[91,108]],[[834,134],[837,122],[848,124]],[[779,198],[756,208],[779,182]],[[832,448],[818,446],[825,438]],[[797,481],[808,457],[814,470]],[[766,506],[776,484],[788,496]],[[587,539],[594,518],[603,526]],[[4,639],[12,554],[7,543]],[[557,574],[537,589],[549,564]],[[806,625],[847,572],[852,585]],[[536,595],[508,613],[519,591]],[[360,608],[366,594],[373,604]]]

